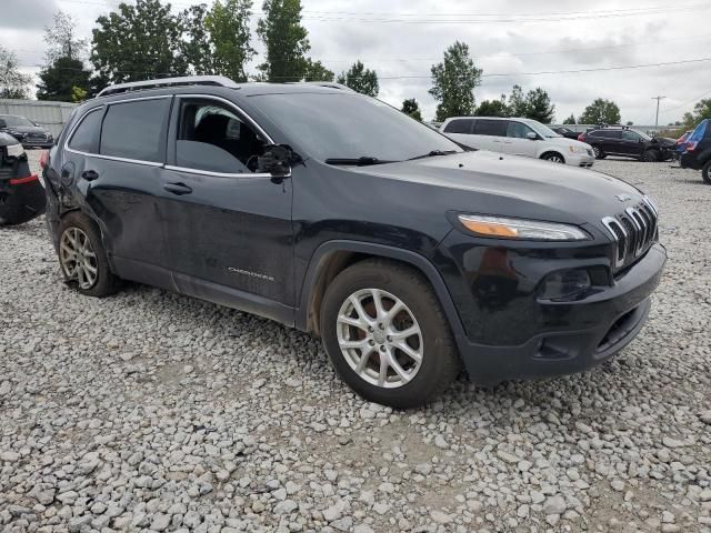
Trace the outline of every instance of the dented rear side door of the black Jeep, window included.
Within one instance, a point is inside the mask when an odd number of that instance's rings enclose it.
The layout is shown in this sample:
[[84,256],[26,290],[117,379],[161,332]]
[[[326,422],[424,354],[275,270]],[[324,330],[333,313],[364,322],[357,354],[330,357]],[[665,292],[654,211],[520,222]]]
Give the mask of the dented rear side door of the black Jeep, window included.
[[[117,273],[172,288],[157,197],[162,191],[172,97],[111,102],[84,115],[68,141],[62,174],[101,225]],[[87,129],[82,128],[87,125]],[[101,124],[100,135],[89,135]]]

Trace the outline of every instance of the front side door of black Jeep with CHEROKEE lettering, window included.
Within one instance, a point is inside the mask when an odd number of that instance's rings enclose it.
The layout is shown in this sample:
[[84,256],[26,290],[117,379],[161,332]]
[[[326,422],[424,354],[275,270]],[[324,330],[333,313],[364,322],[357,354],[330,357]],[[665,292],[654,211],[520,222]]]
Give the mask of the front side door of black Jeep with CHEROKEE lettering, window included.
[[176,97],[161,209],[181,292],[291,322],[292,183],[256,172],[270,142],[230,102]]

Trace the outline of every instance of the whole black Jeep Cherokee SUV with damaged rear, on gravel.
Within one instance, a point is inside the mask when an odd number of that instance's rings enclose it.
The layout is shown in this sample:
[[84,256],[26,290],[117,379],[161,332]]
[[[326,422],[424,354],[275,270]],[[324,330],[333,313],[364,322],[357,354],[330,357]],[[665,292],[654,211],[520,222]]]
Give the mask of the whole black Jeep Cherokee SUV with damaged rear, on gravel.
[[463,151],[331,83],[113,86],[44,177],[78,291],[133,280],[296,326],[397,408],[462,365],[493,384],[600,363],[642,328],[667,257],[634,187]]

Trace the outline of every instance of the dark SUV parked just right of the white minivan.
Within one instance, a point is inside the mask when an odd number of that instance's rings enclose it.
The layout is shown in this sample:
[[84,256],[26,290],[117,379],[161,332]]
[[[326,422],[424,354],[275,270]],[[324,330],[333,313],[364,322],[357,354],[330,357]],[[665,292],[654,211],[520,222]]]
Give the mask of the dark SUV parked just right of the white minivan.
[[623,155],[640,161],[667,161],[674,155],[674,140],[650,137],[628,127],[597,128],[581,133],[578,140],[592,147],[598,159]]

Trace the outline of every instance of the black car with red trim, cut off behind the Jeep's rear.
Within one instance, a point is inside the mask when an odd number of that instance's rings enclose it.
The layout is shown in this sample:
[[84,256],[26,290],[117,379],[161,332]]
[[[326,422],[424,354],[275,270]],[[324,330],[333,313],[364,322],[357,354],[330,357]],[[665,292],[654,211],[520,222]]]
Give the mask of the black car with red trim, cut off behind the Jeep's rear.
[[47,199],[30,172],[22,144],[0,133],[0,225],[21,224],[44,212]]

